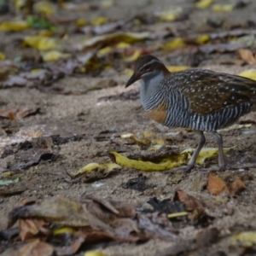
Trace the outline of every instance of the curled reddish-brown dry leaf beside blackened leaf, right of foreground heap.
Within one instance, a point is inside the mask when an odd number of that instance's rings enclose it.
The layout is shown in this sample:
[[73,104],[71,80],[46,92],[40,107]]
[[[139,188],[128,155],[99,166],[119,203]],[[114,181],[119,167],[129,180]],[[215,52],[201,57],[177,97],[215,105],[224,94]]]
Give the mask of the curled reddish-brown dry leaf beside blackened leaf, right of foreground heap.
[[190,220],[199,219],[204,215],[205,207],[201,201],[186,194],[182,189],[176,189],[173,201],[182,201],[185,204],[186,211],[190,212],[188,215]]

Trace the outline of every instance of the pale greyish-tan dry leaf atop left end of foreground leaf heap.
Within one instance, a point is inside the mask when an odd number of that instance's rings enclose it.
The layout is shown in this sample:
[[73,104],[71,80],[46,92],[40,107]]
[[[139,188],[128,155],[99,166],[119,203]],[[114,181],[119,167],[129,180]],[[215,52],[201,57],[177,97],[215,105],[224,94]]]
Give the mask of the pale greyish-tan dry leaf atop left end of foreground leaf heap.
[[46,222],[55,224],[89,226],[82,204],[64,197],[51,198],[31,206],[16,207],[9,213],[9,225],[14,224],[18,218],[44,218]]

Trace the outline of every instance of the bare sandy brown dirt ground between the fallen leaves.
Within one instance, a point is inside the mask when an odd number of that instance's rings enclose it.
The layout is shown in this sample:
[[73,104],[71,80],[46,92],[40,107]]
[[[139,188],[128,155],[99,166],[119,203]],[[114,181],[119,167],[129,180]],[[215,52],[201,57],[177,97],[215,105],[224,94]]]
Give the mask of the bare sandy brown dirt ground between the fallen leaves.
[[[147,2],[145,4],[144,2]],[[234,3],[236,1],[227,1]],[[221,3],[221,1],[216,1]],[[100,9],[98,11],[88,12],[88,17],[93,15],[104,15],[119,19],[123,15],[132,16],[136,13],[150,13],[155,9],[163,9],[166,6],[182,6],[184,9],[193,4],[193,1],[118,1],[118,4],[112,9]],[[125,9],[129,9],[127,12]],[[231,13],[212,13],[212,11],[195,10],[189,15],[189,20],[174,22],[173,27],[183,27],[191,29],[206,17],[214,20],[223,18],[232,22],[243,22],[244,20],[253,20],[256,22],[256,3],[252,1],[244,9],[237,9]],[[16,34],[15,34],[16,35]],[[81,37],[80,35],[78,37]],[[77,39],[77,38],[74,38]],[[5,37],[3,44],[9,44],[12,36]],[[11,49],[9,49],[11,51]],[[15,55],[15,53],[14,53]],[[235,53],[226,54],[228,57],[236,55]],[[212,55],[206,61],[201,61],[199,67],[221,71],[226,73],[240,73],[243,70],[252,68],[253,65],[218,65],[214,60],[218,60],[219,54]],[[161,55],[160,58],[166,64],[172,61]],[[88,84],[96,84],[99,81],[108,83],[109,79],[117,82],[117,86],[105,88],[102,90],[91,90],[87,93],[76,93],[84,91]],[[204,201],[211,201],[212,195],[209,195],[205,189],[208,172],[195,168],[192,172],[184,176],[179,183],[172,180],[174,173],[167,172],[143,172],[147,177],[146,183],[148,189],[138,191],[136,189],[124,189],[122,183],[142,172],[137,170],[123,168],[114,173],[111,177],[96,180],[92,183],[84,183],[83,178],[72,181],[66,172],[75,172],[79,168],[91,162],[108,162],[108,152],[118,151],[122,154],[147,153],[147,149],[137,147],[136,144],[126,143],[120,138],[121,134],[135,133],[142,131],[154,131],[157,134],[165,135],[171,132],[169,144],[179,150],[184,148],[195,148],[197,136],[195,133],[183,129],[166,129],[156,125],[150,120],[141,108],[139,98],[132,100],[104,100],[102,97],[118,96],[123,92],[138,90],[139,83],[125,89],[125,82],[129,79],[128,75],[113,74],[108,77],[93,78],[84,76],[67,76],[59,79],[55,85],[71,90],[73,93],[63,95],[58,93],[44,93],[35,88],[7,88],[0,90],[0,110],[6,108],[40,108],[40,113],[20,120],[1,119],[2,126],[10,126],[15,130],[8,135],[3,134],[0,137],[0,155],[1,159],[6,160],[9,165],[19,162],[19,157],[24,158],[26,150],[20,149],[20,155],[14,154],[14,151],[20,143],[31,141],[32,137],[40,134],[43,137],[68,137],[66,143],[55,143],[53,151],[57,155],[55,159],[41,160],[36,166],[31,166],[26,170],[19,172],[22,184],[25,186],[24,192],[19,195],[0,197],[0,230],[6,228],[8,213],[16,207],[20,201],[28,198],[42,200],[52,196],[65,196],[75,200],[80,200],[85,195],[96,195],[102,198],[111,198],[119,201],[131,201],[137,208],[150,208],[147,201],[156,196],[159,200],[172,199],[175,190],[183,189],[189,195],[193,195]],[[250,166],[248,171],[234,171],[231,168],[221,174],[223,176],[233,172],[237,175],[247,175],[245,180],[246,189],[236,197],[231,197],[223,204],[223,212],[213,212],[216,218],[212,219],[212,224],[208,227],[216,227],[220,231],[217,243],[211,244],[203,250],[197,251],[193,255],[249,255],[244,254],[244,250],[239,247],[232,247],[228,241],[228,236],[234,231],[256,230],[256,125],[255,113],[249,113],[244,120],[252,125],[249,128],[239,130],[223,131],[224,147],[234,147],[229,156],[229,161],[235,166]],[[241,120],[238,123],[241,123]],[[206,147],[216,147],[212,137],[207,135]],[[207,166],[216,165],[218,159],[214,158],[207,161]],[[0,174],[2,175],[2,174]],[[226,211],[226,213],[224,213]],[[195,235],[203,230],[201,226],[186,225],[179,231],[180,239],[194,238]],[[99,248],[108,255],[162,255],[166,248],[173,245],[174,242],[152,239],[143,243],[118,243],[106,242],[91,245],[90,249]],[[0,253],[3,253],[6,247],[13,247],[10,242],[0,242]],[[254,251],[255,253],[255,251]],[[77,253],[84,255],[84,251]],[[192,255],[192,254],[179,254]],[[253,255],[250,254],[250,255]]]

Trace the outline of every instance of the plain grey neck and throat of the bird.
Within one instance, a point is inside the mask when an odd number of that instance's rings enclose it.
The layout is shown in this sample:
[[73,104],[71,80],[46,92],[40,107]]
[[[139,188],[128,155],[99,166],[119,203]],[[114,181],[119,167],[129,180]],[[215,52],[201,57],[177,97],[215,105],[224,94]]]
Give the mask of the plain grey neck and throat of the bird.
[[155,73],[154,76],[142,79],[142,84],[140,88],[140,97],[142,102],[148,100],[148,98],[150,98],[151,96],[154,96],[158,84],[160,84],[160,81],[164,78],[164,73],[158,72]]

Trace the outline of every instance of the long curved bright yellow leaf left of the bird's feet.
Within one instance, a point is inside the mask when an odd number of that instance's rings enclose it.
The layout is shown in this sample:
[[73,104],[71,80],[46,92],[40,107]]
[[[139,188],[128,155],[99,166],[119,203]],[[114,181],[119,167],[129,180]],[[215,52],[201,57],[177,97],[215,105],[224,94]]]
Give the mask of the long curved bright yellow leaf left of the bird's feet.
[[144,171],[144,172],[157,172],[157,171],[165,171],[168,169],[172,169],[177,166],[181,166],[183,164],[184,156],[180,155],[171,155],[168,158],[162,159],[158,163],[153,163],[150,161],[143,160],[131,160],[126,156],[119,154],[117,152],[110,152],[113,155],[115,162],[119,166],[123,166],[126,168],[133,168],[136,170]]

